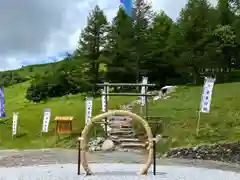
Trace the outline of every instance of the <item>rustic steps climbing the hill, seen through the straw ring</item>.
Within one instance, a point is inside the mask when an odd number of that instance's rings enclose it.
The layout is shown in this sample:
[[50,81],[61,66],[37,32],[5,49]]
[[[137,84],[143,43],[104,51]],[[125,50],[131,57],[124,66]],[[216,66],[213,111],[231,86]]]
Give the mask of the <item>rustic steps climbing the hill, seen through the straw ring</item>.
[[109,138],[116,144],[117,149],[144,150],[146,143],[136,137],[132,127],[132,119],[125,116],[112,116],[108,118]]

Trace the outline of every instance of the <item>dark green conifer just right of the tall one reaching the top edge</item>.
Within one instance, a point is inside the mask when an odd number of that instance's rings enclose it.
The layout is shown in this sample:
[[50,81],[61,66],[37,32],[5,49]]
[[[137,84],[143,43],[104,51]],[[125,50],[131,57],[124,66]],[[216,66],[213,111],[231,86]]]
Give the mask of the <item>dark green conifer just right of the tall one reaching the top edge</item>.
[[172,52],[168,40],[173,21],[164,12],[160,12],[153,20],[148,39],[148,55],[144,67],[151,70],[148,77],[151,81],[165,84],[168,77],[174,75]]

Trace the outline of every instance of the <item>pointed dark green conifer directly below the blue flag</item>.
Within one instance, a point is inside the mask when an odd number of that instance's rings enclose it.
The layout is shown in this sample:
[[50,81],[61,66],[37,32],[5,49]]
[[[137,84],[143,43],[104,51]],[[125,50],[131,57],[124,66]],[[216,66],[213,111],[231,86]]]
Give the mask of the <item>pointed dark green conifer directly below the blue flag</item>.
[[131,18],[119,9],[108,33],[105,51],[108,58],[106,78],[111,82],[132,82],[135,79],[135,61]]

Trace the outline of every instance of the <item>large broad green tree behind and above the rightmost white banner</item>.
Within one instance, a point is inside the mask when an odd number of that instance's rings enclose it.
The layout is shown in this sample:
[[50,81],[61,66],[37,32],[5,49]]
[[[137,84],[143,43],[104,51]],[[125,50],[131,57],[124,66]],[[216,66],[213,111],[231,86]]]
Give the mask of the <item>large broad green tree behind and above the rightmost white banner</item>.
[[186,7],[181,11],[179,24],[179,35],[182,36],[182,53],[178,61],[185,75],[191,77],[193,83],[197,83],[200,69],[210,65],[207,54],[203,51],[206,46],[204,40],[206,35],[216,27],[216,10],[207,0],[189,0]]

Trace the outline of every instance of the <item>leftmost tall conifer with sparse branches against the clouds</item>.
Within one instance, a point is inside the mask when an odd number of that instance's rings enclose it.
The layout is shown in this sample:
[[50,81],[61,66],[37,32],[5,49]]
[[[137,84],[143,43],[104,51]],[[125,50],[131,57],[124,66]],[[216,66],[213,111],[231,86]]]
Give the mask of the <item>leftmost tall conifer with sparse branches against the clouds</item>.
[[87,26],[81,33],[77,54],[84,57],[84,73],[93,84],[93,92],[96,91],[96,83],[99,81],[99,57],[106,44],[107,19],[103,10],[96,6],[89,14]]

